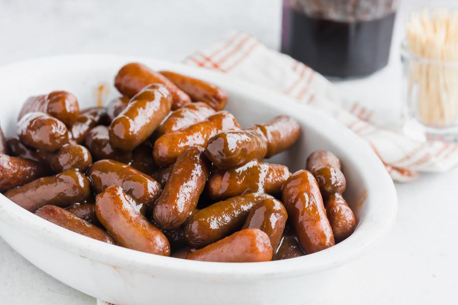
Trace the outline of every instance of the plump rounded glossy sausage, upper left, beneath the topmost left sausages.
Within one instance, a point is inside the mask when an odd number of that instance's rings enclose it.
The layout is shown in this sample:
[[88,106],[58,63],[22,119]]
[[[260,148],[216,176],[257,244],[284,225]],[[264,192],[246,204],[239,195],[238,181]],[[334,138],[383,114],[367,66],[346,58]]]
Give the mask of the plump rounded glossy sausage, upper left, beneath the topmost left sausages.
[[30,112],[17,123],[19,140],[25,145],[53,152],[68,142],[65,124],[49,114]]

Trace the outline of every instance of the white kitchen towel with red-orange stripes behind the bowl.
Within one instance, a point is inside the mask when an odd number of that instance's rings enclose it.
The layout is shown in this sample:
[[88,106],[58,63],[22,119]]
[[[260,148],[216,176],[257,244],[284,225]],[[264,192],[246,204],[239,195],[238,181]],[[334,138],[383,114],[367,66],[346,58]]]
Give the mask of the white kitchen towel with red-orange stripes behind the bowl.
[[332,115],[374,149],[396,181],[410,181],[420,172],[442,172],[458,164],[458,145],[438,140],[419,143],[400,130],[382,127],[377,113],[340,98],[325,77],[244,32],[196,51],[184,63],[277,90]]

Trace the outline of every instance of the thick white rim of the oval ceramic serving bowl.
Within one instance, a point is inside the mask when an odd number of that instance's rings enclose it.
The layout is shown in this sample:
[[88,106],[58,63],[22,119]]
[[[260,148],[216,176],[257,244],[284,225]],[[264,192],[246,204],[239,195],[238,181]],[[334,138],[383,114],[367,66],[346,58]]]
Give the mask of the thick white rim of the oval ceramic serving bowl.
[[[96,64],[100,60],[112,60],[114,62],[119,61],[124,63],[137,61],[146,63],[148,66],[154,66],[156,64],[157,66],[166,66],[167,69],[180,73],[194,75],[204,79],[212,79],[215,83],[224,83],[224,86],[242,92],[245,96],[255,96],[256,99],[259,99],[263,103],[281,110],[282,114],[297,116],[297,111],[305,113],[307,120],[312,123],[321,123],[321,129],[333,132],[336,137],[344,137],[348,142],[350,153],[359,154],[358,160],[361,163],[361,167],[369,166],[371,168],[370,174],[364,176],[367,184],[367,192],[369,193],[370,200],[373,201],[368,205],[367,211],[368,214],[369,211],[371,212],[371,225],[369,226],[371,230],[364,230],[360,234],[357,234],[358,231],[355,231],[346,240],[347,242],[340,242],[324,251],[294,259],[259,263],[219,263],[169,258],[108,245],[102,241],[76,234],[41,219],[19,207],[3,195],[0,195],[0,221],[16,227],[35,238],[39,238],[48,245],[58,247],[64,251],[70,251],[83,258],[89,258],[117,267],[128,267],[131,270],[138,270],[140,272],[168,276],[179,275],[181,278],[198,277],[201,280],[206,279],[209,281],[214,280],[215,277],[230,277],[230,279],[238,279],[240,281],[251,281],[252,279],[260,278],[269,280],[292,278],[328,270],[362,256],[386,236],[393,226],[397,214],[396,190],[383,163],[374,151],[356,134],[333,117],[308,105],[298,104],[291,98],[272,90],[203,68],[169,63],[165,60],[149,57],[114,54],[70,54],[26,59],[0,67],[0,80],[3,77],[7,77],[11,72],[26,72],[31,67],[33,69],[34,66],[58,65],[59,63],[68,61]],[[0,90],[1,87],[2,85],[0,84]],[[288,104],[289,107],[281,107],[283,104]],[[322,124],[323,122],[326,124]],[[382,191],[375,191],[377,189]],[[2,235],[2,232],[0,232],[0,235]],[[350,240],[352,242],[349,242]]]

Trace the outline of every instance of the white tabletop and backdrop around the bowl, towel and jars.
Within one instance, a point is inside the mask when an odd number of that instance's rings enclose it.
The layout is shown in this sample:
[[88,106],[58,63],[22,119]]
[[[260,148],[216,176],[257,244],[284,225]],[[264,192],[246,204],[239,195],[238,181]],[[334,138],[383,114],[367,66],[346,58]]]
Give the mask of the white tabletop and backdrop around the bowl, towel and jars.
[[[390,64],[365,79],[337,81],[342,94],[399,113],[399,42],[409,11],[431,3],[404,0]],[[453,5],[453,0],[434,1]],[[278,48],[281,0],[0,1],[0,65],[24,58],[109,52],[179,61],[242,29]],[[1,101],[0,103],[6,103]],[[458,168],[397,184],[399,212],[389,236],[329,279],[320,303],[456,303],[458,299]],[[33,251],[33,249],[31,249]],[[1,304],[95,304],[54,280],[0,239]]]

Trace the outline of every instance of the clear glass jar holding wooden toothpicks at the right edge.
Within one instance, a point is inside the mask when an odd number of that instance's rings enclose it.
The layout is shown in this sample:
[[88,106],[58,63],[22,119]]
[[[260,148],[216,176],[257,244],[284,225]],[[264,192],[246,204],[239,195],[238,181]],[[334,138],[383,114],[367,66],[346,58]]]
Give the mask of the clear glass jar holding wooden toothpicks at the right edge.
[[419,57],[407,41],[401,59],[406,135],[458,142],[458,62]]

